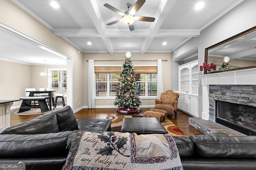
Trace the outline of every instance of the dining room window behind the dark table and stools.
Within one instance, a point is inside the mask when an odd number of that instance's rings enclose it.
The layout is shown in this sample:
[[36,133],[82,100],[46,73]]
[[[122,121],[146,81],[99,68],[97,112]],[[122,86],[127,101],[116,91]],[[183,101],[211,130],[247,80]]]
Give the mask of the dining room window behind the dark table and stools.
[[62,88],[66,88],[65,94],[67,94],[67,70],[66,69],[49,69],[51,72],[50,87],[52,90],[57,90],[56,93],[62,93]]

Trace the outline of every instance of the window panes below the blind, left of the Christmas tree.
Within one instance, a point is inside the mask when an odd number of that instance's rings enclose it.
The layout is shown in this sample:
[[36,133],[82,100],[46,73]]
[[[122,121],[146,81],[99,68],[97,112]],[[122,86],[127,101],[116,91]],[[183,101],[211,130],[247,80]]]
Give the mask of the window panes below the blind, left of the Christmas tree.
[[96,96],[113,97],[116,96],[119,73],[96,73]]

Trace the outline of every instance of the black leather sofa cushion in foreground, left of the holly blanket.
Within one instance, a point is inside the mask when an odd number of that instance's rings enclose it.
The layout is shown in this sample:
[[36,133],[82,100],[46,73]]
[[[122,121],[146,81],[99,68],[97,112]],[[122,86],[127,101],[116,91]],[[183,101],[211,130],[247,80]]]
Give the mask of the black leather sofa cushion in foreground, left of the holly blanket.
[[67,156],[66,141],[71,132],[36,135],[0,135],[0,158]]

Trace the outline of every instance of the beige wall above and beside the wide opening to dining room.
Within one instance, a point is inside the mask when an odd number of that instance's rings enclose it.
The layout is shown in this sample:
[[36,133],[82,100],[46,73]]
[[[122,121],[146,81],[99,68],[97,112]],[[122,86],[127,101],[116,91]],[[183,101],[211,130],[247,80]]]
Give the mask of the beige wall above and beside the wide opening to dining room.
[[[53,31],[30,16],[24,10],[16,6],[10,0],[0,0],[0,22],[70,56],[73,59],[73,109],[82,107],[83,82],[82,82],[82,53],[77,53],[77,49],[70,43],[56,37]],[[79,104],[80,102],[80,104]]]

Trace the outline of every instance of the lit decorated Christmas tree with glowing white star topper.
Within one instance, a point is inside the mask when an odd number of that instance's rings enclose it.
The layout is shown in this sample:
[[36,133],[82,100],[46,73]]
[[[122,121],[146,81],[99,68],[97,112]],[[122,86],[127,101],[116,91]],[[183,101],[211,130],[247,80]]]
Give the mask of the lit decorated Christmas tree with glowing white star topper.
[[119,113],[128,113],[139,111],[141,101],[139,98],[138,88],[136,86],[136,75],[133,70],[131,53],[126,53],[126,59],[122,66],[122,73],[119,78],[116,101],[114,106],[118,106]]

